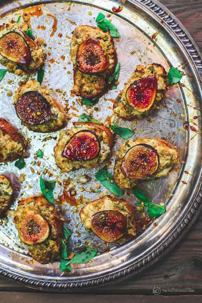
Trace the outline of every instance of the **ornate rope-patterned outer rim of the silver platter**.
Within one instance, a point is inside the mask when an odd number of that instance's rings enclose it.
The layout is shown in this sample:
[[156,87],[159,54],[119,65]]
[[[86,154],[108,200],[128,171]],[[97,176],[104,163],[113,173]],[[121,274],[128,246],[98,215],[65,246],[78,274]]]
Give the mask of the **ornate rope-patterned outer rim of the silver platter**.
[[[50,2],[50,1],[45,1]],[[200,59],[200,55],[198,54],[197,46],[195,46],[195,43],[192,41],[192,38],[190,37],[189,33],[184,29],[184,27],[176,21],[174,16],[166,9],[163,5],[161,5],[159,2],[154,1],[147,1],[147,0],[139,0],[139,1],[128,1],[131,2],[133,5],[139,6],[142,8],[144,7],[148,8],[153,14],[159,17],[165,16],[166,14],[169,15],[169,19],[165,20],[164,22],[168,26],[169,29],[172,30],[172,32],[175,33],[175,35],[178,37],[178,40],[181,41],[184,48],[186,48],[187,52],[191,54],[192,61],[194,62],[194,65],[197,68],[197,71],[200,75],[202,75],[202,63]],[[39,4],[44,2],[38,2]],[[34,2],[33,4],[36,4]],[[181,34],[179,34],[180,30],[182,31]],[[184,32],[184,33],[183,33]],[[180,36],[181,35],[181,36]],[[187,38],[189,41],[187,41]],[[183,41],[184,39],[184,41]],[[186,40],[186,41],[185,41]],[[191,42],[191,43],[190,43]],[[200,185],[200,180],[198,180],[198,185]],[[37,279],[37,278],[28,278],[28,276],[19,276],[15,275],[14,272],[5,271],[3,268],[0,270],[0,273],[4,275],[7,278],[10,278],[12,280],[22,282],[25,285],[29,285],[31,287],[40,287],[43,289],[50,289],[50,290],[65,290],[68,289],[72,290],[75,288],[81,288],[81,287],[91,287],[96,285],[101,285],[110,281],[114,281],[115,279],[124,277],[126,275],[129,275],[132,272],[138,273],[141,271],[145,266],[153,263],[156,261],[160,256],[164,255],[165,252],[168,249],[171,249],[174,244],[177,243],[177,241],[180,238],[180,234],[182,235],[186,230],[187,226],[190,227],[190,223],[192,223],[196,218],[197,214],[199,214],[200,209],[200,203],[201,203],[201,196],[202,192],[199,191],[197,193],[197,189],[195,190],[195,193],[193,194],[195,197],[194,201],[190,201],[189,203],[189,209],[187,210],[187,214],[184,215],[184,218],[182,218],[180,224],[175,227],[172,232],[167,235],[167,237],[164,239],[164,241],[159,245],[158,247],[154,248],[152,252],[149,254],[145,254],[144,258],[142,258],[140,261],[130,264],[127,266],[120,266],[121,269],[118,269],[114,271],[111,274],[104,274],[102,277],[90,280],[83,280],[83,281],[71,281],[66,282],[65,280],[68,280],[68,277],[65,277],[64,281],[62,282],[56,282],[56,281],[49,281],[49,279]]]

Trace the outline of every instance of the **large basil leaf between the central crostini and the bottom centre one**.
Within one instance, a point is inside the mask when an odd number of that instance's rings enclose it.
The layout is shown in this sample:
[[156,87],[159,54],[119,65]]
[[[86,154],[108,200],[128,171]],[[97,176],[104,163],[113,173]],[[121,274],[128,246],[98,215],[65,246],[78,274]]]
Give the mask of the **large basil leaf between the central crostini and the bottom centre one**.
[[122,195],[121,189],[116,185],[112,175],[108,174],[107,171],[99,170],[95,177],[101,184],[107,187],[115,195],[119,197]]

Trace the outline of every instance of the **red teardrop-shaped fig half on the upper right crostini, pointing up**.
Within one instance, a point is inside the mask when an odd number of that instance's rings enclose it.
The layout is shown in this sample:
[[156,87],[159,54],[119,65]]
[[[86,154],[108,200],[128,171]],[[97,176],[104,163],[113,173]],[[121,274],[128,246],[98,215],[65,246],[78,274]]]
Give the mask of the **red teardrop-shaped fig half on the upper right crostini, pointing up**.
[[154,103],[156,94],[157,78],[154,75],[133,82],[126,91],[126,100],[136,111],[145,112]]

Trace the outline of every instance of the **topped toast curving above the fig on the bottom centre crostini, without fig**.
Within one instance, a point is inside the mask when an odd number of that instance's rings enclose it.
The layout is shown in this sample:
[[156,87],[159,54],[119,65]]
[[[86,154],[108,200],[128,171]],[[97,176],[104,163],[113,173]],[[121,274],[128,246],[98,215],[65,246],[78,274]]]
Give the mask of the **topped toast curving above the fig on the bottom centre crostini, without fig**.
[[135,209],[130,203],[121,199],[112,199],[107,195],[100,199],[94,200],[86,204],[80,211],[80,218],[85,228],[91,228],[92,216],[98,211],[119,211],[126,218],[127,231],[126,238],[136,237],[138,234],[138,222]]

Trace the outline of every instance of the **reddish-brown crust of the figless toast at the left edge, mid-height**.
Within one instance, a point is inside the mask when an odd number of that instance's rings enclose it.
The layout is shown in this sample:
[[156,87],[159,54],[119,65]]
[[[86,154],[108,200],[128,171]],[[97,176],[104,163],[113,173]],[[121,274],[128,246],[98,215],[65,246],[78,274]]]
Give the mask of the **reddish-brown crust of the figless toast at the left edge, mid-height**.
[[20,142],[23,147],[22,154],[16,154],[6,159],[3,159],[0,156],[0,162],[14,161],[19,158],[27,158],[28,153],[25,152],[27,145],[25,144],[23,137],[18,133],[17,129],[4,118],[0,118],[0,130],[3,132],[3,135],[10,135],[14,142]]

